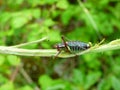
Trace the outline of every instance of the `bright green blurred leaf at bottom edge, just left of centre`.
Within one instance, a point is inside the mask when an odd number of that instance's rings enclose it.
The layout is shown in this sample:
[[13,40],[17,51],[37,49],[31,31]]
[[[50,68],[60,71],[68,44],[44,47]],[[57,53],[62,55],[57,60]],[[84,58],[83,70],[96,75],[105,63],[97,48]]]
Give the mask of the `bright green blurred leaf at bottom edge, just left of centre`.
[[42,90],[71,90],[70,84],[61,79],[52,80],[49,76],[43,75],[39,78]]

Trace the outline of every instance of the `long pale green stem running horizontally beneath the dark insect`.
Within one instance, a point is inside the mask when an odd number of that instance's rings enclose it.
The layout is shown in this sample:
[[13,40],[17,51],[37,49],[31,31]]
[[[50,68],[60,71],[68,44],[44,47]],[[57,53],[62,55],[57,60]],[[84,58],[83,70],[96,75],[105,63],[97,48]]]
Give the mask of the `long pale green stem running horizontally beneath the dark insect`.
[[[67,52],[61,52],[58,57],[61,58],[68,58],[68,57],[74,57],[76,55],[83,55],[86,53],[98,53],[98,52],[105,52],[109,50],[118,50],[120,49],[120,39],[111,41],[108,44],[104,45],[95,45],[91,47],[90,49],[87,49],[85,51],[71,54]],[[52,57],[56,56],[58,51],[56,49],[20,49],[16,47],[6,47],[6,46],[0,46],[0,53],[1,54],[12,54],[12,55],[20,55],[20,56],[40,56],[40,57]]]

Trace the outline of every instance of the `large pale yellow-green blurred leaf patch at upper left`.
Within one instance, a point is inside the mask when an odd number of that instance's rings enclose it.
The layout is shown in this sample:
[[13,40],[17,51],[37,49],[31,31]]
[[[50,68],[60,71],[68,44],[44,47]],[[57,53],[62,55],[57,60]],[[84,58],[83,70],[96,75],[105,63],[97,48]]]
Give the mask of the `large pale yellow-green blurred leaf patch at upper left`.
[[[27,13],[27,14],[26,14]],[[31,9],[31,10],[23,10],[21,12],[16,12],[11,15],[11,27],[12,28],[20,28],[26,23],[28,23],[32,18],[39,18],[40,10],[39,9]]]

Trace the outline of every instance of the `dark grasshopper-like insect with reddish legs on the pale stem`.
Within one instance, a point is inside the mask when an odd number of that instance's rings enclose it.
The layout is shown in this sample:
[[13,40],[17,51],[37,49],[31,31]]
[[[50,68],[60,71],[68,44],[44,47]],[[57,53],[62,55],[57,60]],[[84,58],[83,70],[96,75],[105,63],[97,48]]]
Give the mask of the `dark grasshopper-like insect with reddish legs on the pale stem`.
[[76,53],[91,47],[89,43],[80,42],[80,41],[65,41],[63,36],[61,38],[63,42],[55,46],[56,49],[59,51],[56,56],[58,56],[62,50],[70,53]]

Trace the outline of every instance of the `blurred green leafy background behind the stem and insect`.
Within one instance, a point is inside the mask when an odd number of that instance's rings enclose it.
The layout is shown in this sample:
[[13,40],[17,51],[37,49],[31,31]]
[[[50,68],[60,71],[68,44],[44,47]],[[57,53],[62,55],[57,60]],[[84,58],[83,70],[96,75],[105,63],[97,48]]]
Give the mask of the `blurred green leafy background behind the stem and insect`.
[[[1,46],[49,36],[23,48],[52,49],[62,35],[93,44],[120,38],[120,1],[0,0]],[[0,54],[0,90],[120,90],[120,51],[55,60]]]

